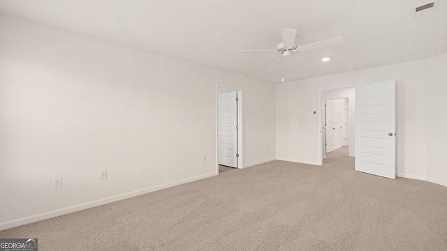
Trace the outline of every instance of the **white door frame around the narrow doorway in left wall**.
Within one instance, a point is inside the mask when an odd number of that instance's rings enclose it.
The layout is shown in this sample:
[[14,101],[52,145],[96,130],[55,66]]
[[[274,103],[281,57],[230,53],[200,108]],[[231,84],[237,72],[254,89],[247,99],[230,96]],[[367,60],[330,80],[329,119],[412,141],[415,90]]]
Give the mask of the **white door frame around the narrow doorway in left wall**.
[[219,174],[219,88],[231,89],[237,92],[237,98],[239,99],[237,102],[237,153],[239,153],[239,158],[237,158],[237,168],[244,168],[244,90],[235,86],[216,84],[216,174]]

